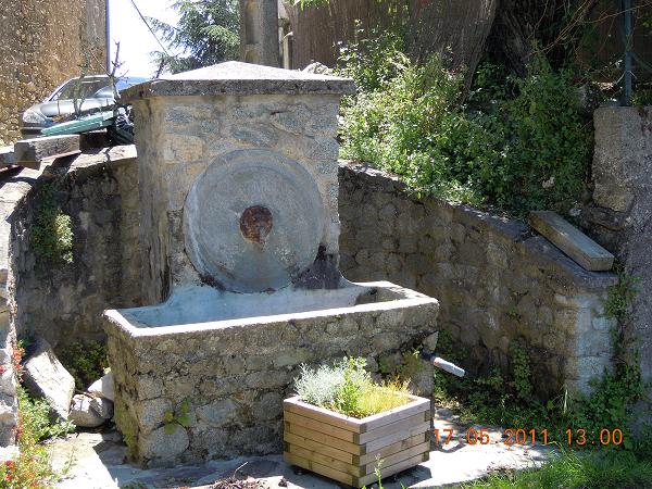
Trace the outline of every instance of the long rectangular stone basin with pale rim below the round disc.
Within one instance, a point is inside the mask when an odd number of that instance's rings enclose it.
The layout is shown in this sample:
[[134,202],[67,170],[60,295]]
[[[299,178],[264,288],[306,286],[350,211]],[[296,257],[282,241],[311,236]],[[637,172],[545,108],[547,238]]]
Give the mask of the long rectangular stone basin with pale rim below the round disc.
[[[375,363],[436,328],[435,299],[387,281],[341,284],[248,294],[199,287],[106,311],[109,355],[121,359],[116,423],[131,456],[156,466],[278,452],[283,399],[300,364]],[[187,423],[166,428],[166,412]]]

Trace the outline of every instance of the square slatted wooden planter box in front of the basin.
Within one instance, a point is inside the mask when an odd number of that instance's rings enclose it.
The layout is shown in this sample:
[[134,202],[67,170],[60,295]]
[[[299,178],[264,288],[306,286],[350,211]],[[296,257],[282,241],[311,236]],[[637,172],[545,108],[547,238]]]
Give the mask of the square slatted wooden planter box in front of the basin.
[[430,401],[412,402],[362,419],[286,399],[284,460],[339,482],[362,487],[376,481],[377,459],[387,477],[428,460]]

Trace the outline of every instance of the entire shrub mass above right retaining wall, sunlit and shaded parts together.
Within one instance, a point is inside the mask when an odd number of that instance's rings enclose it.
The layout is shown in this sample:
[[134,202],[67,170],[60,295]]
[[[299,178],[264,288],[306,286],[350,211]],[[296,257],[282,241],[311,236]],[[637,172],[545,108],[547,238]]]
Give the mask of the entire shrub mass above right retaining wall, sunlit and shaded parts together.
[[[588,173],[592,126],[579,106],[570,72],[535,60],[525,79],[478,72],[462,103],[464,78],[439,55],[423,64],[388,35],[342,51],[341,73],[360,92],[348,99],[341,124],[342,158],[396,173],[419,195],[516,216],[530,210],[567,211]],[[368,45],[377,47],[369,53]]]

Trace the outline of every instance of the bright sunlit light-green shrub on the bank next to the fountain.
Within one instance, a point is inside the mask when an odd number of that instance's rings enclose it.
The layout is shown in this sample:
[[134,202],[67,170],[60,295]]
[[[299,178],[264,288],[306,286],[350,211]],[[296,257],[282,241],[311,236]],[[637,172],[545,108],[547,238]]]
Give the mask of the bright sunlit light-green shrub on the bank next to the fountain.
[[380,75],[358,76],[369,89],[344,105],[342,156],[396,173],[421,193],[475,202],[451,152],[467,126],[459,105],[462,76],[443,70],[437,55],[416,65],[393,49]]

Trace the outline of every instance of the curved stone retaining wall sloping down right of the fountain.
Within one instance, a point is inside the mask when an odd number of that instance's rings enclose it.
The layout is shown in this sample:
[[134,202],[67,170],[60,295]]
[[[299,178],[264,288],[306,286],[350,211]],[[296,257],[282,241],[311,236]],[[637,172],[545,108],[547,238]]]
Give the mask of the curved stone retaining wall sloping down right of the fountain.
[[541,396],[587,390],[609,364],[613,323],[602,314],[616,277],[586,272],[525,224],[415,199],[397,178],[354,164],[340,165],[339,212],[344,277],[437,298],[440,328],[460,340],[472,373],[506,367],[515,340]]

